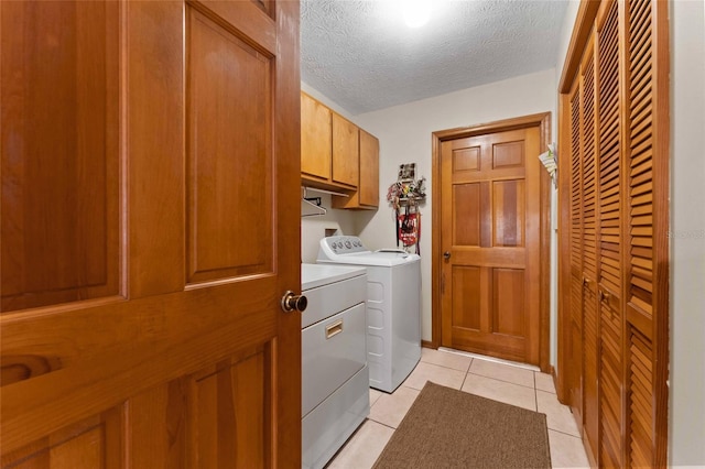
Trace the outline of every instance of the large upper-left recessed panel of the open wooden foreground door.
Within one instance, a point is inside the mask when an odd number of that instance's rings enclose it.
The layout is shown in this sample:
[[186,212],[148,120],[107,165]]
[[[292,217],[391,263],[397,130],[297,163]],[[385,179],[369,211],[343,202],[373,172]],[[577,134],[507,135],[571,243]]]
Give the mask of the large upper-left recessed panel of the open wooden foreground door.
[[118,7],[2,7],[2,312],[121,293]]

